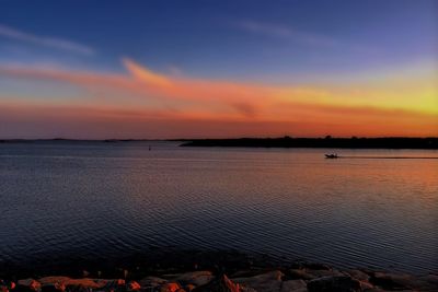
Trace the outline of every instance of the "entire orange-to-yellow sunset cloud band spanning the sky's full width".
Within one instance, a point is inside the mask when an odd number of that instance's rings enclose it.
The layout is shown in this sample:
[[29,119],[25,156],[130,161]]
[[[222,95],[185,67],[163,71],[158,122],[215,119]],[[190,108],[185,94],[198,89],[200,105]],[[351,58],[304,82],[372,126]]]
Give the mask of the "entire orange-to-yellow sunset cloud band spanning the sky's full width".
[[[38,113],[44,112],[46,119],[51,117],[68,125],[80,124],[84,119],[107,122],[115,128],[130,125],[131,129],[138,129],[139,135],[148,135],[148,131],[141,130],[137,124],[155,125],[165,138],[193,137],[191,130],[205,137],[226,137],[227,132],[228,136],[438,136],[438,108],[429,109],[431,106],[428,106],[427,110],[423,110],[423,106],[417,105],[420,101],[434,103],[433,96],[438,91],[417,81],[410,85],[410,92],[419,96],[415,100],[387,85],[362,84],[358,94],[356,87],[348,86],[272,86],[169,77],[129,59],[124,59],[123,63],[128,74],[0,67],[0,75],[67,82],[119,96],[118,102],[100,100],[82,107],[57,105],[56,102],[45,104],[44,101],[20,104],[11,102],[13,98],[9,102],[3,98],[0,106],[2,110],[15,113],[15,117],[22,118],[20,121],[9,115],[9,120],[16,124],[23,124],[31,117],[43,122],[44,117]],[[388,84],[393,85],[391,82]],[[394,92],[399,92],[401,102],[393,101]],[[377,98],[379,94],[380,98]],[[132,97],[148,103],[139,103]],[[392,101],[391,104],[384,102],[387,97]],[[120,125],[115,126],[117,122]],[[172,122],[177,124],[181,130],[174,130],[176,125],[169,126]],[[196,122],[196,130],[182,130],[183,125],[195,127]]]

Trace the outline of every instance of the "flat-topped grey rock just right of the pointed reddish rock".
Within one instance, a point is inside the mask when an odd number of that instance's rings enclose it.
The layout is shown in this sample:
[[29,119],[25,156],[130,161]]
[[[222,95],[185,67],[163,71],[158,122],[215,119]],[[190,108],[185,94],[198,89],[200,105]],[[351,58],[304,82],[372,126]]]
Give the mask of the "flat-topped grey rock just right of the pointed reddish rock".
[[235,278],[232,280],[256,291],[278,292],[281,288],[283,276],[283,272],[276,270],[250,278]]

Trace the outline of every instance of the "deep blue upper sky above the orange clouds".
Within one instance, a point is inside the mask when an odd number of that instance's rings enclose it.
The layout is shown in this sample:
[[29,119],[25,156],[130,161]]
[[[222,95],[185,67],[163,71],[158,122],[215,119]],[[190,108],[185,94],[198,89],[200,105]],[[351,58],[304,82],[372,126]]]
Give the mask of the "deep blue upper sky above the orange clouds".
[[293,82],[436,61],[437,11],[427,0],[3,0],[1,25],[93,54],[67,56],[0,35],[0,60],[124,70],[118,59],[129,56],[162,72]]

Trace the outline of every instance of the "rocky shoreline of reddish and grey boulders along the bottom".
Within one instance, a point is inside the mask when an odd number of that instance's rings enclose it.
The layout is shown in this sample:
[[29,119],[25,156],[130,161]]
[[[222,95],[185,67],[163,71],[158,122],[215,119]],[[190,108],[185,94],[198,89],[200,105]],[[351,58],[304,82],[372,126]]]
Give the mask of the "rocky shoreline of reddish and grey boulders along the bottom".
[[[269,265],[270,266],[270,265]],[[196,266],[195,266],[196,269]],[[322,264],[295,262],[278,268],[220,268],[149,275],[120,270],[120,278],[102,272],[82,277],[34,277],[0,280],[0,292],[356,292],[438,291],[438,275],[414,276],[368,269],[336,269]]]

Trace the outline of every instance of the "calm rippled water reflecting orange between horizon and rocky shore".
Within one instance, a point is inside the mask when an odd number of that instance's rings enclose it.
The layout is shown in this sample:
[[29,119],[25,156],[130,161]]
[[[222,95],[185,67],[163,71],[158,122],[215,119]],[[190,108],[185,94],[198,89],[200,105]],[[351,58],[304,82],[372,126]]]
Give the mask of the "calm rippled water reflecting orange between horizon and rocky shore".
[[438,160],[324,160],[324,152],[0,144],[0,262],[176,246],[437,271]]

